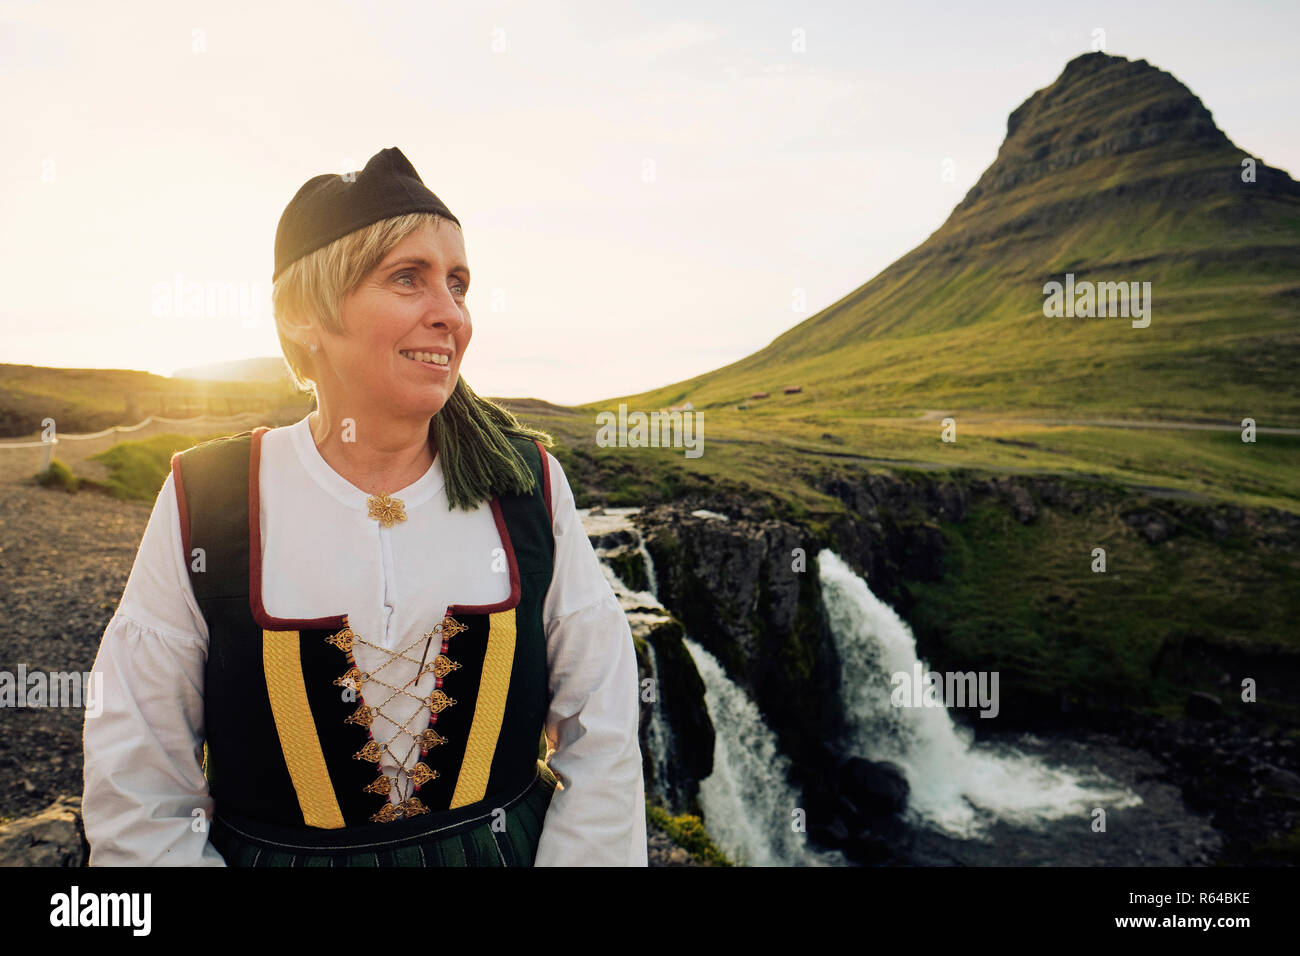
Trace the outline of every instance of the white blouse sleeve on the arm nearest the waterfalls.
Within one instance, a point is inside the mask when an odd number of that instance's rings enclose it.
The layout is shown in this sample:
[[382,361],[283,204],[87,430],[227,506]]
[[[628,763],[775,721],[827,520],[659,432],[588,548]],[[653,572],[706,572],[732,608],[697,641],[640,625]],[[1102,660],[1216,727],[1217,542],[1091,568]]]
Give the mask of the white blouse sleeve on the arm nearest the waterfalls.
[[555,574],[546,596],[551,797],[534,866],[646,866],[638,675],[632,628],[601,571],[559,462]]

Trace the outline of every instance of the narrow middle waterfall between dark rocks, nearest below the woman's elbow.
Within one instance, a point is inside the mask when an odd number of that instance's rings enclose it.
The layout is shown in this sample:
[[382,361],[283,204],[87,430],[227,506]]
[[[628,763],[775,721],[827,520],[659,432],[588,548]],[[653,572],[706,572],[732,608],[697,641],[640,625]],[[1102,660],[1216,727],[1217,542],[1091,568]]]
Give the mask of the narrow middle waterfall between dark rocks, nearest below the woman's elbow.
[[786,782],[789,760],[776,735],[718,659],[685,640],[705,682],[705,706],[714,723],[714,771],[699,783],[705,827],[724,853],[748,866],[844,866],[838,852],[819,853],[793,829],[802,803]]

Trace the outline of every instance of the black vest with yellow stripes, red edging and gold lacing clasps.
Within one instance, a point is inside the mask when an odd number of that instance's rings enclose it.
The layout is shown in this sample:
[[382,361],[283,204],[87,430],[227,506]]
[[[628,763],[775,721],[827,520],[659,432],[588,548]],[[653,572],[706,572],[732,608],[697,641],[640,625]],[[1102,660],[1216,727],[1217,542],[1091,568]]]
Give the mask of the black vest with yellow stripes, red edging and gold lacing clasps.
[[[555,553],[541,445],[511,438],[533,471],[533,492],[491,501],[511,596],[448,606],[438,628],[443,643],[433,637],[436,713],[421,741],[425,769],[416,767],[432,779],[398,810],[378,769],[364,680],[355,687],[347,609],[286,619],[263,607],[259,460],[266,431],[202,442],[172,458],[186,564],[208,624],[204,771],[218,812],[338,829],[491,806],[526,786],[549,705],[542,604]],[[429,622],[430,630],[437,624]]]

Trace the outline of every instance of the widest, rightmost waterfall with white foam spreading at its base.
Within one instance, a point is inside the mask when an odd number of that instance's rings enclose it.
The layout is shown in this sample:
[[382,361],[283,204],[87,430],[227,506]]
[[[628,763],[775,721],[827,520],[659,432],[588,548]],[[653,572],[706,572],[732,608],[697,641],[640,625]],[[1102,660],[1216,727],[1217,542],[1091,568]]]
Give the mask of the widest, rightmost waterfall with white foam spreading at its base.
[[1086,816],[1098,805],[1141,803],[1101,774],[1050,767],[1010,747],[975,744],[974,732],[954,724],[946,708],[894,706],[892,675],[910,675],[918,663],[911,630],[835,551],[820,551],[818,564],[842,663],[849,749],[902,769],[911,788],[911,822],[978,839],[998,819],[1034,826]]

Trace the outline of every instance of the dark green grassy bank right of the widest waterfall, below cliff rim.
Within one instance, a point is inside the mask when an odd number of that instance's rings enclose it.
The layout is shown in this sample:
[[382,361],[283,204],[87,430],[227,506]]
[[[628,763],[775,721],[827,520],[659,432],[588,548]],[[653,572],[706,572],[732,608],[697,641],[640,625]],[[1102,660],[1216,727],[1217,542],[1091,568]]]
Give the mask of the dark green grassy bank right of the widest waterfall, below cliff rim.
[[[1217,672],[1166,674],[1165,646],[1296,649],[1300,557],[1187,524],[1152,545],[1123,522],[1126,507],[1118,498],[1079,515],[1044,509],[1020,524],[983,505],[944,525],[942,583],[909,584],[918,644],[945,667],[1000,671],[1005,698],[1063,693],[1160,713],[1179,710],[1188,689],[1222,693],[1197,685]],[[1095,548],[1106,551],[1104,574],[1092,571]]]

